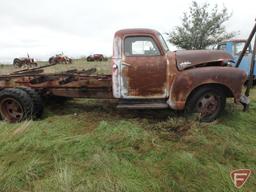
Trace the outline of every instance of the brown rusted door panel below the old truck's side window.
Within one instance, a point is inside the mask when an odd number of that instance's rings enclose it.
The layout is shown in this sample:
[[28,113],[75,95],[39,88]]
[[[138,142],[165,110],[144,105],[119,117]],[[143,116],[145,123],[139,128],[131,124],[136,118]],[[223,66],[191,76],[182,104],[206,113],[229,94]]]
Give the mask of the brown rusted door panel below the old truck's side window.
[[158,57],[126,57],[130,67],[122,70],[129,96],[163,96],[166,93],[166,62]]

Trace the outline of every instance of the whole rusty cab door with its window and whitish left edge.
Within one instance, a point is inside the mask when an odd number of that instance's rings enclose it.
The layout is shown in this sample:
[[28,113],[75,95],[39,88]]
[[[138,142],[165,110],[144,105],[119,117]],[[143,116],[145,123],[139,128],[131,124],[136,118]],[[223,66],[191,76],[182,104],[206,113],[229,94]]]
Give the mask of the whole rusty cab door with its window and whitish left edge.
[[123,39],[121,98],[166,98],[167,62],[152,36]]

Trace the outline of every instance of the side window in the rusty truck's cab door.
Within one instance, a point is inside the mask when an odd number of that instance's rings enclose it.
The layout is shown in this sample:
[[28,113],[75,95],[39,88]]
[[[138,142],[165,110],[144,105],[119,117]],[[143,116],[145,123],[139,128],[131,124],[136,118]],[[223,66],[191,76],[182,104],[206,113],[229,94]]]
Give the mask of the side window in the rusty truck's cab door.
[[152,37],[127,37],[124,41],[125,56],[156,56],[160,51]]

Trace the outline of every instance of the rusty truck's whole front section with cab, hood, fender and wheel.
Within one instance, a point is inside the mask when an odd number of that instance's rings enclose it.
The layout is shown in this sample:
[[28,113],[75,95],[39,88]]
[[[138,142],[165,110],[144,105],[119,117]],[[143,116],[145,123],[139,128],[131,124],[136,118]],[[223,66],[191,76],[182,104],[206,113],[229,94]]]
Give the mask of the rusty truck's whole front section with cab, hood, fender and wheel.
[[170,52],[151,29],[124,29],[114,36],[112,90],[119,108],[172,108],[216,118],[226,97],[240,101],[246,74],[229,67],[222,50]]

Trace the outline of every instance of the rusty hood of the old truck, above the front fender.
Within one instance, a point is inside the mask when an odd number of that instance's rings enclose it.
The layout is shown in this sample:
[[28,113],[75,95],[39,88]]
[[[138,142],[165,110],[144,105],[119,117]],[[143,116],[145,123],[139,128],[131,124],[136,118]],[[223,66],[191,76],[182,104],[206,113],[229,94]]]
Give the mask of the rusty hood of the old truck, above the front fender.
[[176,62],[179,70],[192,67],[225,66],[233,62],[233,57],[220,50],[182,50],[176,51]]

